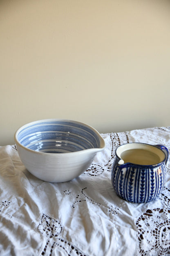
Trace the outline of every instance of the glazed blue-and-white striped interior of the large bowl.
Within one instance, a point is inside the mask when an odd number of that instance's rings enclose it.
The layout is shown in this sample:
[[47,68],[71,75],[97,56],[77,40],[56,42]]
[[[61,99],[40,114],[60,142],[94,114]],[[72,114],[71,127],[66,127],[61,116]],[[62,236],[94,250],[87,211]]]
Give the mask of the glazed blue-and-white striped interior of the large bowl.
[[22,126],[16,133],[18,142],[30,150],[68,153],[100,148],[98,132],[81,122],[40,120]]

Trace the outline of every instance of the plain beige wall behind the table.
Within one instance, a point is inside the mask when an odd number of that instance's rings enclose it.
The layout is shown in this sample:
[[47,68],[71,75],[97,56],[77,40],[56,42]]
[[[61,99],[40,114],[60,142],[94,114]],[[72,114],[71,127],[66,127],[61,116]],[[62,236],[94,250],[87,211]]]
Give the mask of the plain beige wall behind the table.
[[170,125],[170,1],[1,0],[0,145],[27,122]]

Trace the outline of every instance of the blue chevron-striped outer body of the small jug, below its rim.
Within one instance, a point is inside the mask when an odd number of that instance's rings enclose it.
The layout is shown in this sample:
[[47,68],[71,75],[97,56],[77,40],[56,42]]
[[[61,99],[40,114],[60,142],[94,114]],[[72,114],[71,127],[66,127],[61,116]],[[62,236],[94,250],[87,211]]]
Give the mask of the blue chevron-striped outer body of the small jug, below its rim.
[[161,193],[166,180],[166,166],[135,167],[127,164],[123,169],[114,163],[112,185],[121,198],[133,203],[153,201]]

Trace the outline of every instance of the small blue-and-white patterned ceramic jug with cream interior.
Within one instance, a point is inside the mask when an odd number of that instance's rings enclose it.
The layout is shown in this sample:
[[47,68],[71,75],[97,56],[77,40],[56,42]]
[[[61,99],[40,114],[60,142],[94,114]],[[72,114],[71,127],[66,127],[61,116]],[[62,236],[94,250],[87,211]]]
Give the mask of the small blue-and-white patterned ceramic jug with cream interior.
[[168,149],[163,145],[127,143],[116,149],[112,185],[116,194],[132,203],[153,201],[166,182]]

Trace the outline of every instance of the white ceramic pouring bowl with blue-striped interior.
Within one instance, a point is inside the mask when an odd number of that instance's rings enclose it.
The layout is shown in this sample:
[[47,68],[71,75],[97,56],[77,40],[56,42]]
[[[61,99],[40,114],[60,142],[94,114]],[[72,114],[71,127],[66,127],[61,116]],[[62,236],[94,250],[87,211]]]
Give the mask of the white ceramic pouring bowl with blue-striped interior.
[[46,119],[20,127],[14,140],[27,170],[41,180],[66,182],[89,168],[105,141],[82,122]]

